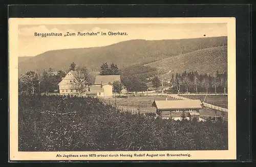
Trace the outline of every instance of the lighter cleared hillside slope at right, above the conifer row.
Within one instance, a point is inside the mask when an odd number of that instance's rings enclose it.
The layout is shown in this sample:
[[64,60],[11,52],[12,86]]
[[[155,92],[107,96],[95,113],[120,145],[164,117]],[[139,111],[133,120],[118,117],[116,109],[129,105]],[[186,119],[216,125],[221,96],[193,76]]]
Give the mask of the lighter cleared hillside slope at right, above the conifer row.
[[[210,47],[183,55],[165,58],[145,64],[173,73],[197,70],[200,73],[215,73],[216,70],[227,71],[227,46]],[[167,76],[165,76],[167,77]]]

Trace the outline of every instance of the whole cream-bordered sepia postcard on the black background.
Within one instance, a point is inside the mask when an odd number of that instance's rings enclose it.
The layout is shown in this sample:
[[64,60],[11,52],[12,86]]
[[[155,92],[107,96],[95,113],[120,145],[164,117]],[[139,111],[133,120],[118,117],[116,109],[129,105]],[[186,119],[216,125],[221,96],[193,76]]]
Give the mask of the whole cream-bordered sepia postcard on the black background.
[[236,159],[236,19],[9,18],[9,158]]

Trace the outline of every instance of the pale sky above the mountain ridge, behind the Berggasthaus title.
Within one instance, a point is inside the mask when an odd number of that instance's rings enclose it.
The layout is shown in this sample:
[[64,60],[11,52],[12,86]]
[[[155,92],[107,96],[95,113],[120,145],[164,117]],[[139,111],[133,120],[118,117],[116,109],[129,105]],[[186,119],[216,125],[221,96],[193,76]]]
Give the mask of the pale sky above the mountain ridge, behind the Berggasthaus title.
[[[34,36],[35,32],[62,33],[62,36],[40,37]],[[64,37],[67,32],[75,33],[76,36]],[[127,35],[77,36],[78,32],[125,32]],[[218,36],[227,36],[226,23],[19,25],[18,52],[19,56],[36,56],[51,50],[106,46],[132,39],[162,40]]]

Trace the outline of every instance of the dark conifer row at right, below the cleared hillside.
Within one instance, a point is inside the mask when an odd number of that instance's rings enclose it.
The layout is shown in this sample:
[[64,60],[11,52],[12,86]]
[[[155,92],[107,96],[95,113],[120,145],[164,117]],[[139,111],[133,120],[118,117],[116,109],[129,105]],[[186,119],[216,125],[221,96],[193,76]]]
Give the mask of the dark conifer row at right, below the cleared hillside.
[[184,71],[182,74],[172,75],[170,90],[180,92],[222,92],[227,93],[227,73],[199,74],[197,71]]

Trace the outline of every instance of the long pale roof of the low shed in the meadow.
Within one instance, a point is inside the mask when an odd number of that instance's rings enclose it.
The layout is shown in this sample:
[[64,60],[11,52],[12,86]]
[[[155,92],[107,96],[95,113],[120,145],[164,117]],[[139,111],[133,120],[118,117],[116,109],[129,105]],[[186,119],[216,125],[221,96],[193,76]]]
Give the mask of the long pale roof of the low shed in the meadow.
[[200,100],[160,100],[152,104],[157,109],[201,109],[202,105]]

